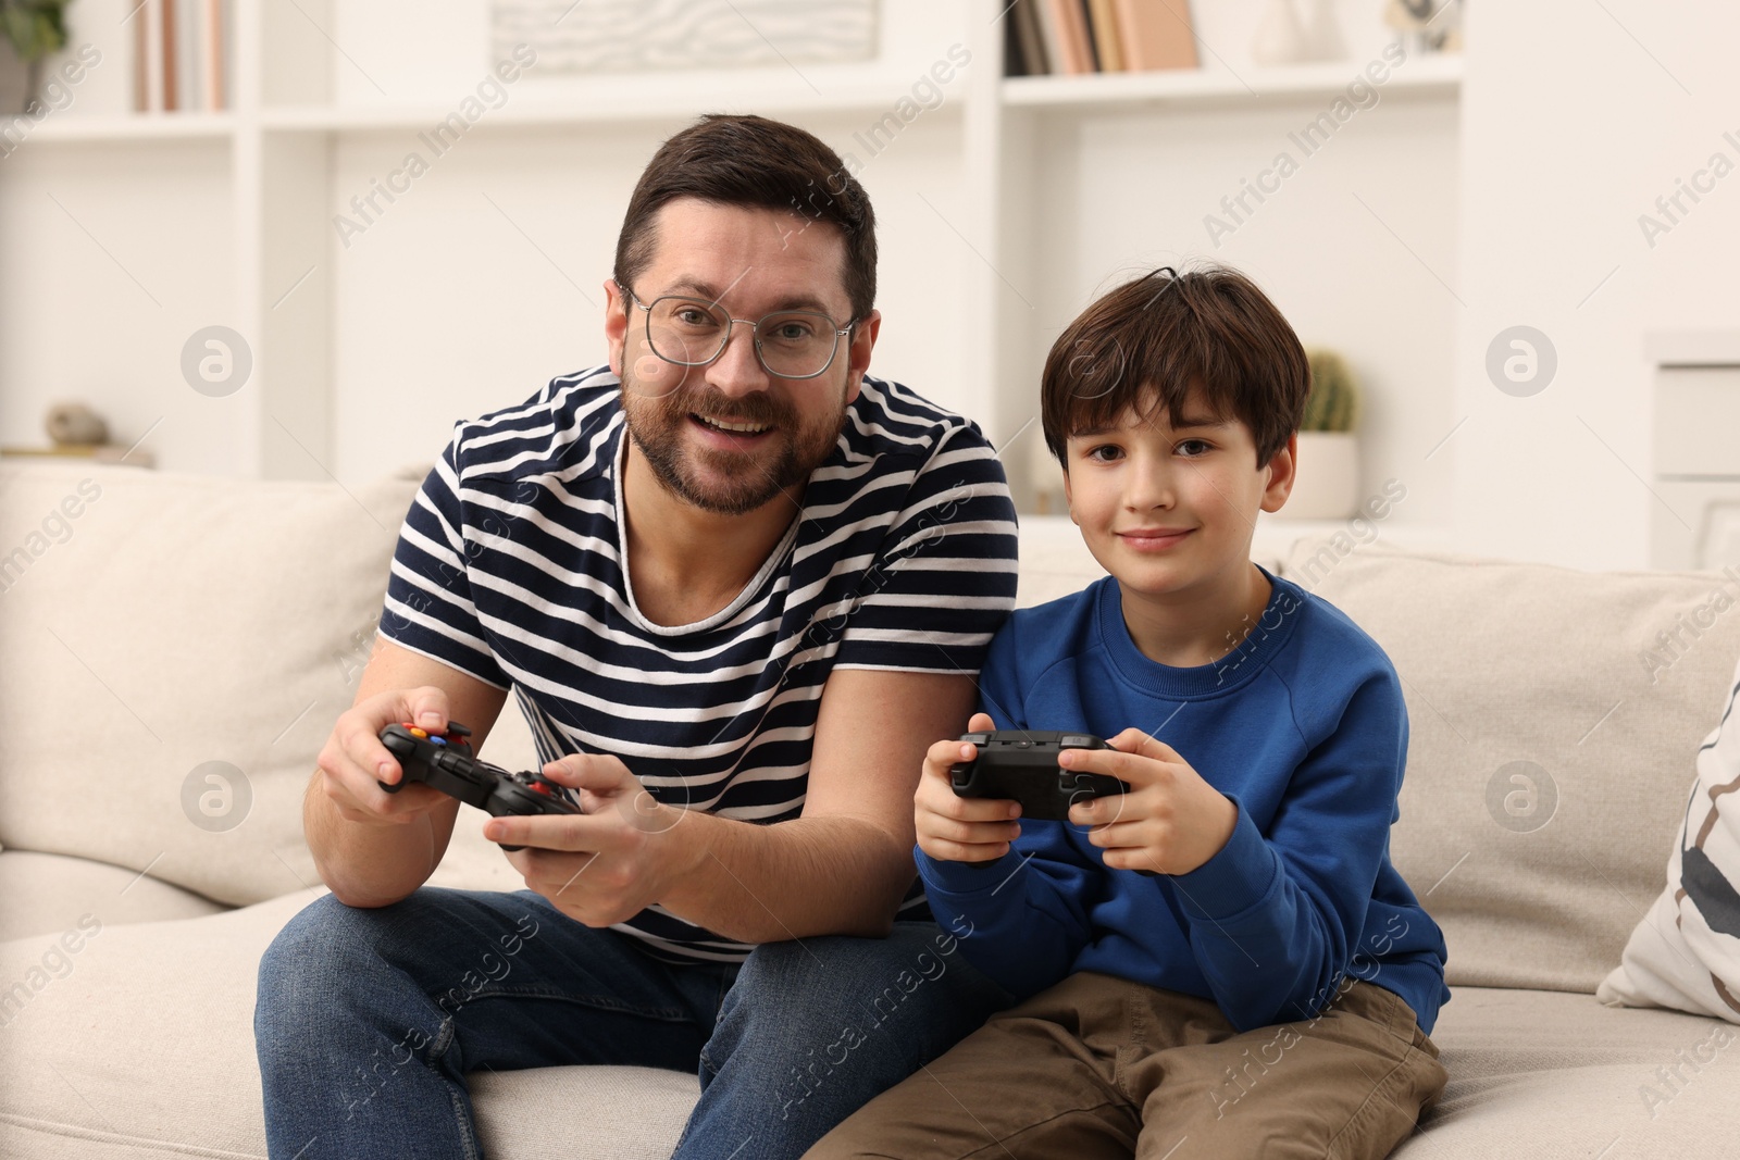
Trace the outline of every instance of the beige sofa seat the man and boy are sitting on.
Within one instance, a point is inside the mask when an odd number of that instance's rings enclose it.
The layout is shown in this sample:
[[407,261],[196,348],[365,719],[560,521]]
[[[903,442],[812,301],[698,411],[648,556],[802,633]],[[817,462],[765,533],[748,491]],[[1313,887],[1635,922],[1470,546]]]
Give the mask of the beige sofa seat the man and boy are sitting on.
[[[0,1155],[263,1157],[254,977],[313,897],[80,932],[78,950],[61,953],[70,965],[0,1012]],[[0,944],[0,979],[31,979],[54,948],[57,937]],[[1394,1153],[1404,1160],[1740,1148],[1730,1099],[1740,1033],[1726,1024],[1587,995],[1456,988],[1434,1040],[1449,1085]],[[498,1160],[668,1157],[698,1094],[693,1075],[644,1068],[484,1071],[470,1083]]]

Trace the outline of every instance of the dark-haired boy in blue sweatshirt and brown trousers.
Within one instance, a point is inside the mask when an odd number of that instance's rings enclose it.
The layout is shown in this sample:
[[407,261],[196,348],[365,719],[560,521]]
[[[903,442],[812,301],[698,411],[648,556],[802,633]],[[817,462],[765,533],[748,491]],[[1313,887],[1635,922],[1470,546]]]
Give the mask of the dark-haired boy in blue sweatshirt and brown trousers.
[[950,791],[971,744],[929,748],[931,908],[1025,1002],[811,1158],[1378,1158],[1437,1099],[1444,939],[1389,861],[1395,670],[1249,558],[1308,388],[1291,327],[1220,268],[1119,287],[1053,346],[1046,442],[1110,577],[1007,621],[967,729],[1098,734],[1060,765],[1129,793],[1023,824]]

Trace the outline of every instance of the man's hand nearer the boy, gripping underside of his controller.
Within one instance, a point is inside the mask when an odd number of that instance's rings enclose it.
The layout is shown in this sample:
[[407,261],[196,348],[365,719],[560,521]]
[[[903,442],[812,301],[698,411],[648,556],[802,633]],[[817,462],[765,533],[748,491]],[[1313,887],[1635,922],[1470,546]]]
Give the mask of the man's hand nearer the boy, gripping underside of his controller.
[[677,833],[689,810],[647,793],[621,758],[576,753],[543,774],[578,790],[586,812],[492,817],[484,837],[527,847],[508,852],[508,861],[569,918],[588,927],[626,922],[705,857],[705,849],[682,840],[696,826]]

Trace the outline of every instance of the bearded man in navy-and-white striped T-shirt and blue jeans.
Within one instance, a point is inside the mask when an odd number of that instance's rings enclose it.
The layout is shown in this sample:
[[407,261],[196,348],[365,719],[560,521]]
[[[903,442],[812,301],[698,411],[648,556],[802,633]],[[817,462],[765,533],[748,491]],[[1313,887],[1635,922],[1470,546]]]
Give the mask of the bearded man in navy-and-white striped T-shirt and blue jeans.
[[[304,802],[332,894],[259,970],[273,1157],[477,1157],[466,1073],[576,1063],[698,1070],[679,1157],[799,1157],[1007,1002],[922,910],[912,793],[1014,511],[971,423],[867,376],[863,188],[706,117],[606,292],[609,369],[461,423],[405,518]],[[510,687],[585,814],[487,821],[527,890],[423,887],[458,805],[383,791],[378,732],[480,744]]]

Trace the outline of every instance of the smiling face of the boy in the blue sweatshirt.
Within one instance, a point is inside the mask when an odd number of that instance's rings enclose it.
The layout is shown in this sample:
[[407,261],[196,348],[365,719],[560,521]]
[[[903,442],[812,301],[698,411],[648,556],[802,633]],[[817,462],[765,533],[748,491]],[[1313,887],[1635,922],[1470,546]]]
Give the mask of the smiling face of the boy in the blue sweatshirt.
[[1215,421],[1192,391],[1176,428],[1161,407],[1072,435],[1063,494],[1088,550],[1126,591],[1195,595],[1249,562],[1256,513],[1286,503],[1296,449],[1289,437],[1258,468],[1249,428]]

